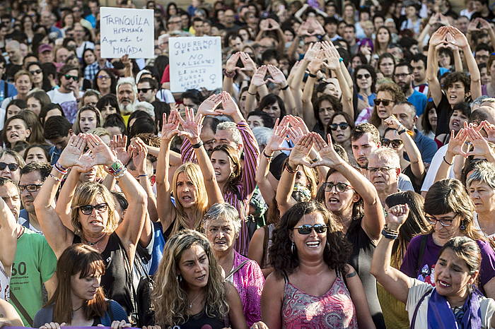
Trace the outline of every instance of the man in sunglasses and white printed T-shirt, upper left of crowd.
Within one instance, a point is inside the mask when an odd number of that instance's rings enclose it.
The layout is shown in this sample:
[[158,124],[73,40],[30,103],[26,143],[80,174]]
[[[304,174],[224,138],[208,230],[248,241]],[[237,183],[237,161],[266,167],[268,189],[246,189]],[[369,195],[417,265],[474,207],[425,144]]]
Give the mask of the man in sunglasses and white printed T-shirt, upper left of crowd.
[[64,65],[58,73],[60,88],[47,92],[52,103],[60,104],[65,117],[73,123],[77,114],[77,100],[83,97],[79,90],[79,70],[74,65]]

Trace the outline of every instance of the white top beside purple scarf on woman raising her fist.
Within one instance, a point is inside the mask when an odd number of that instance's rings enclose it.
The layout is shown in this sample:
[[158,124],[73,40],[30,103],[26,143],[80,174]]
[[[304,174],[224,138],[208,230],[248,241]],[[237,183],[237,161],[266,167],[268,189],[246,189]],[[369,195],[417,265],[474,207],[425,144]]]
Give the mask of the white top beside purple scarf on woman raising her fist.
[[[411,280],[412,287],[407,294],[406,311],[409,314],[409,323],[412,324],[412,316],[414,315],[416,305],[418,304],[419,299],[431,289],[431,285],[413,279],[412,277],[410,277],[409,280]],[[416,321],[414,322],[414,329],[428,329],[428,301],[430,300],[430,296],[431,294],[428,294],[428,296],[421,301],[421,305],[419,305]],[[481,297],[479,300],[479,307],[482,313],[482,328],[489,329],[491,316],[493,316],[495,311],[495,301],[491,298]]]

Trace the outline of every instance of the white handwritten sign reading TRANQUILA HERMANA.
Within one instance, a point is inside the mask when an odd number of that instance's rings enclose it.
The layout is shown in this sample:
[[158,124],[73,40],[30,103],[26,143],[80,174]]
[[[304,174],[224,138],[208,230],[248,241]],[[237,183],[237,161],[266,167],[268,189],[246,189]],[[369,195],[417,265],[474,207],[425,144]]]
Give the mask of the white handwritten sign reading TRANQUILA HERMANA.
[[105,59],[153,58],[155,20],[152,9],[100,8],[101,56]]

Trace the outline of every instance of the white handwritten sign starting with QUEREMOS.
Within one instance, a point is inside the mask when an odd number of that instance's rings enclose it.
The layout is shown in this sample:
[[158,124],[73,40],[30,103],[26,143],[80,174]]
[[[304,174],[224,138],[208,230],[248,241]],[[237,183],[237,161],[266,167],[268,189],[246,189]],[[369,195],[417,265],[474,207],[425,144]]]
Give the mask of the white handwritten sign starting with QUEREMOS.
[[168,54],[172,92],[222,87],[221,37],[171,37]]

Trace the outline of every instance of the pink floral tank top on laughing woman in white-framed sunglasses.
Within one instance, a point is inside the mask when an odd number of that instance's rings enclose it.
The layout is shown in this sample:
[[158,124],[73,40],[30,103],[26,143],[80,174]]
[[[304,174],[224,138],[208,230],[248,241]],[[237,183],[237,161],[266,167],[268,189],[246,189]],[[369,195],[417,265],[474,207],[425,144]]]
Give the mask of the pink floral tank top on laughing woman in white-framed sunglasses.
[[358,328],[351,294],[340,275],[322,296],[299,290],[286,277],[282,301],[282,328]]

